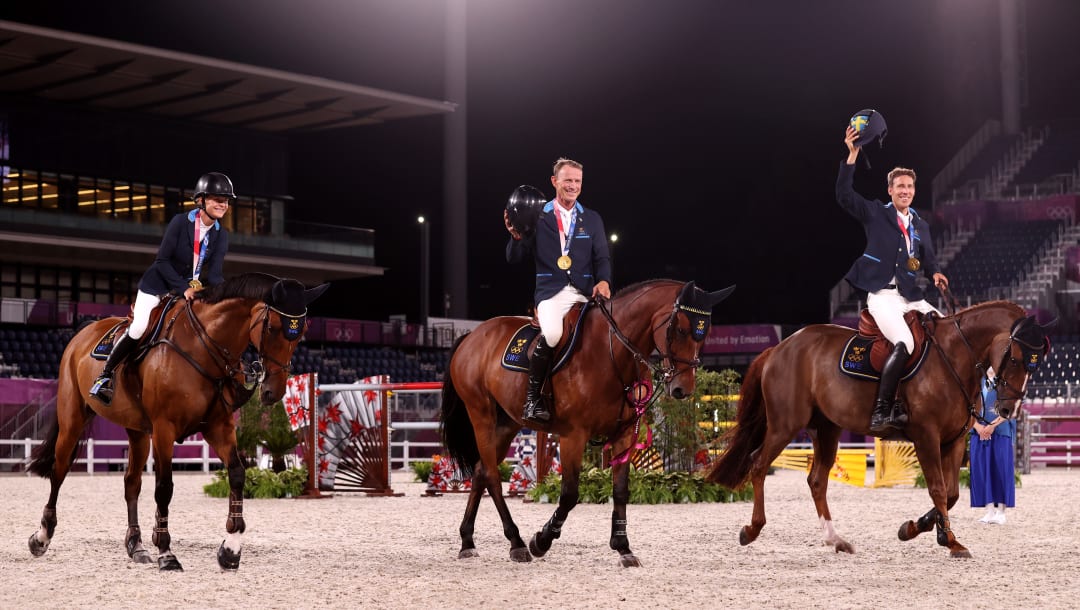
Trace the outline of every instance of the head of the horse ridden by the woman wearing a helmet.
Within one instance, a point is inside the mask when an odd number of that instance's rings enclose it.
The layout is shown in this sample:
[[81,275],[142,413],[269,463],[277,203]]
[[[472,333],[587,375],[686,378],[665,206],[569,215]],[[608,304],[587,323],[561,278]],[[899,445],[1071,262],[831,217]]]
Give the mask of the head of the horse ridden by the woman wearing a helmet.
[[255,306],[253,313],[261,323],[252,325],[249,338],[259,360],[269,363],[261,371],[262,404],[273,404],[285,394],[289,361],[308,329],[308,303],[328,287],[329,284],[322,284],[306,289],[296,280],[279,280],[265,302]]

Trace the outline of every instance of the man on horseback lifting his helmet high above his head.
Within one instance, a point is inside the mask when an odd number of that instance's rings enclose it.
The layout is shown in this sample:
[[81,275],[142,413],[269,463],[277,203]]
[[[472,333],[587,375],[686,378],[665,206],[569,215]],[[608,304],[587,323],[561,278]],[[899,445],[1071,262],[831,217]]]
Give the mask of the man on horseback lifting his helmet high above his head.
[[848,214],[863,225],[866,249],[851,266],[845,279],[855,288],[866,292],[866,309],[874,316],[881,335],[892,344],[892,351],[881,367],[874,414],[869,430],[886,436],[907,423],[897,398],[900,376],[915,350],[915,339],[904,322],[904,314],[917,310],[940,312],[924,300],[916,284],[917,272],[933,277],[934,285],[948,286],[934,256],[930,226],[912,209],[915,199],[915,172],[896,167],[889,172],[889,203],[869,201],[852,186],[855,160],[862,148],[885,137],[885,120],[873,110],[864,110],[851,119],[843,144],[848,159],[840,165],[836,179],[836,199]]

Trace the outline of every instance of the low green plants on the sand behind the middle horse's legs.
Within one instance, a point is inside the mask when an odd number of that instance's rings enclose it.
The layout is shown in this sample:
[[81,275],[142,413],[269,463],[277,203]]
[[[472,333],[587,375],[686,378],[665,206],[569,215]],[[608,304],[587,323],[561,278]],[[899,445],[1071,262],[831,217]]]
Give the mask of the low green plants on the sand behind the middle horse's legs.
[[[558,501],[563,477],[549,473],[528,491],[536,502]],[[611,470],[589,469],[581,473],[578,500],[588,504],[604,504],[611,499]],[[666,504],[672,502],[741,502],[754,497],[750,485],[739,491],[707,483],[700,473],[630,471],[631,504]]]

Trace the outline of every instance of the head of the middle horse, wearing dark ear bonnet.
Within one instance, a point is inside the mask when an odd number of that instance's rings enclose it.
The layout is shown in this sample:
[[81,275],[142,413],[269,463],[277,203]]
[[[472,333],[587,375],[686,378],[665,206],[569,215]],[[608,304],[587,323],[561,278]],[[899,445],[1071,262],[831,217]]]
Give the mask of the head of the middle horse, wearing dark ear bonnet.
[[708,336],[713,307],[734,289],[728,286],[706,293],[693,282],[687,282],[675,299],[667,323],[654,327],[653,341],[660,351],[661,374],[672,397],[686,398],[693,394],[696,371],[701,365],[699,354]]

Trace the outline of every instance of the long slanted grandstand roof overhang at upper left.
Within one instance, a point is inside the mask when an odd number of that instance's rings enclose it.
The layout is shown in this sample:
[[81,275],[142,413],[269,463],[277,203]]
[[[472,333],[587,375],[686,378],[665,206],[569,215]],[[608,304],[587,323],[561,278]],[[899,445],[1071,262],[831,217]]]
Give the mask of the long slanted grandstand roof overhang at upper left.
[[271,133],[453,112],[456,104],[0,21],[0,92]]

